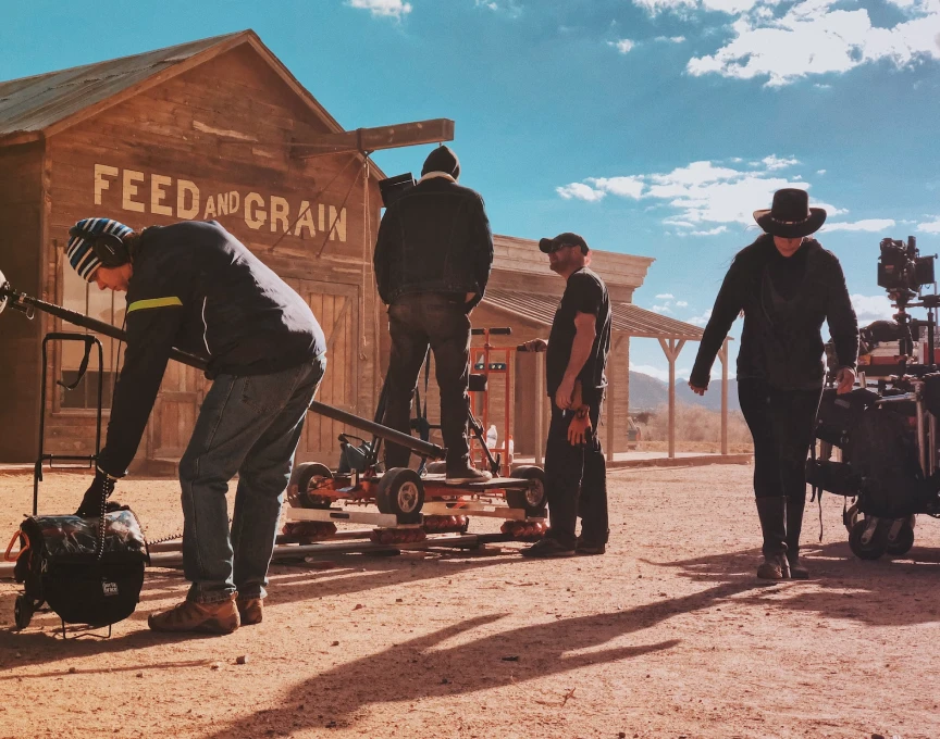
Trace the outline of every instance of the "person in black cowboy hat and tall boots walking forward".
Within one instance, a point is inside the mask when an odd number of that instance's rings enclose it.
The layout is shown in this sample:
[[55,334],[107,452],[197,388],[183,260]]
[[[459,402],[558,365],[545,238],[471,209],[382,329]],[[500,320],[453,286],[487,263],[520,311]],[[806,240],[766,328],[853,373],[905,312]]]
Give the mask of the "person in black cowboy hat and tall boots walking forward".
[[712,364],[739,313],[738,396],[754,438],[754,492],[764,534],[757,577],[806,578],[800,530],[806,502],[806,454],[822,391],[822,322],[839,361],[838,391],[855,383],[858,323],[839,260],[809,238],[826,211],[809,208],[805,190],[774,193],[769,210],[754,212],[764,229],[738,253],[712,310],[689,379],[708,388]]

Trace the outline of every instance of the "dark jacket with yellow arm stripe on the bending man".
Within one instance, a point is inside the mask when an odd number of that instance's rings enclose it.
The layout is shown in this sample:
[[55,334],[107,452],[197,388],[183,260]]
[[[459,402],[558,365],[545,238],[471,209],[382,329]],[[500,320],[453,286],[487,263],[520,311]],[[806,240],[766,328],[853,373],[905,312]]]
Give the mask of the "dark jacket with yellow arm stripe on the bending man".
[[210,379],[271,374],[326,351],[310,306],[215,222],[148,228],[132,259],[127,348],[98,461],[118,476],[137,452],[171,348],[208,360]]

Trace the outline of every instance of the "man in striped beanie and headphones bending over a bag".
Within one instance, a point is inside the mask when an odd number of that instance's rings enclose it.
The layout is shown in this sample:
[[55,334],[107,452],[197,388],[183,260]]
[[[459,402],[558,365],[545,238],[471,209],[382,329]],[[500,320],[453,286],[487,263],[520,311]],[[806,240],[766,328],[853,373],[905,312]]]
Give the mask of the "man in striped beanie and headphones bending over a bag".
[[[212,634],[258,624],[294,452],[326,367],[323,331],[302,298],[218,223],[137,234],[87,218],[69,233],[65,253],[78,275],[127,293],[124,366],[78,515],[99,515],[125,475],[170,350],[206,359],[212,387],[180,460],[183,567],[193,585],[148,623]],[[230,535],[225,494],[236,473]]]

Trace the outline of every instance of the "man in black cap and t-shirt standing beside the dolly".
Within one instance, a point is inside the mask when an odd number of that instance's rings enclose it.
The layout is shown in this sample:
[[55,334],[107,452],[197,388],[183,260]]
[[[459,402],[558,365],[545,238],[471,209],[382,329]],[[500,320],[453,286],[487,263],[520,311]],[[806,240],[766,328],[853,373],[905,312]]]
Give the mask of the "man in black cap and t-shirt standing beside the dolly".
[[[566,280],[548,341],[532,339],[529,351],[545,358],[552,422],[545,444],[545,496],[551,526],[523,556],[603,554],[607,546],[607,465],[597,421],[610,351],[610,300],[593,271],[588,242],[578,234],[542,239],[548,266]],[[581,536],[576,537],[578,516]]]

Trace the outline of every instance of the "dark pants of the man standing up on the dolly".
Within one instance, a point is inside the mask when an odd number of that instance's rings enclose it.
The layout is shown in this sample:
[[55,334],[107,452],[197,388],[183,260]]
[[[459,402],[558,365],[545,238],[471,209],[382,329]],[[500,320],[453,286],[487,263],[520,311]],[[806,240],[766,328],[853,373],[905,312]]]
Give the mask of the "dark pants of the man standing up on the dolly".
[[[388,308],[392,358],[383,423],[410,434],[411,400],[428,353],[434,352],[441,390],[441,434],[447,448],[447,468],[468,463],[467,419],[470,415],[470,318],[463,296],[424,292],[398,298]],[[385,466],[407,467],[410,452],[397,444],[385,448]]]

